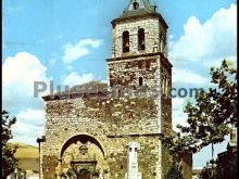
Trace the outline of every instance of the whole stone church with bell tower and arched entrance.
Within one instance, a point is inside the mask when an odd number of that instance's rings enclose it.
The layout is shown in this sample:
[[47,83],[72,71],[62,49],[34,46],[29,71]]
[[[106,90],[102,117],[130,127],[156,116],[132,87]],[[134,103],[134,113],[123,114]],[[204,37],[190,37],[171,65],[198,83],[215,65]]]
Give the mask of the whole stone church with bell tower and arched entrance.
[[161,133],[173,132],[168,26],[149,0],[130,0],[111,23],[108,84],[89,82],[43,97],[40,178],[77,172],[81,179],[124,179],[130,142],[140,145],[142,179],[164,179],[172,167],[172,156],[160,141]]

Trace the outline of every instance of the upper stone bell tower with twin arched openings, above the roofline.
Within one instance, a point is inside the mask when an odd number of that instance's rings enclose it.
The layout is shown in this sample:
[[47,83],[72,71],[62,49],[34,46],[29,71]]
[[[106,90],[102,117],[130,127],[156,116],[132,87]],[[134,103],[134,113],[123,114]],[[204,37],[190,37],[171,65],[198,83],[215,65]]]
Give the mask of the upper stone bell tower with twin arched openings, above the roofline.
[[156,12],[156,5],[149,0],[130,0],[123,14],[111,24],[112,56],[106,60],[109,86],[152,89],[163,85],[162,90],[168,93],[172,69],[166,48],[168,26]]

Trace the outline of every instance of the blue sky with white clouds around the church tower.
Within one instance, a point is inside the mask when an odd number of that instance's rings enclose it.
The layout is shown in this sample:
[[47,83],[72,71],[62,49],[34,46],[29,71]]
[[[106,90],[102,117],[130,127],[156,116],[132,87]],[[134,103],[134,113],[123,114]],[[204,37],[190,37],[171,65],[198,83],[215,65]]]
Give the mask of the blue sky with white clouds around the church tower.
[[[33,81],[76,85],[106,79],[111,21],[129,0],[3,0],[3,107],[17,117],[14,141],[36,145],[43,132],[43,103]],[[236,0],[151,0],[167,22],[168,54],[176,88],[210,86],[209,69],[236,61]],[[187,79],[187,80],[186,80]],[[186,99],[173,99],[173,123],[184,124]],[[36,116],[33,119],[33,116]],[[216,146],[225,151],[226,142]],[[210,149],[193,156],[210,159]]]

